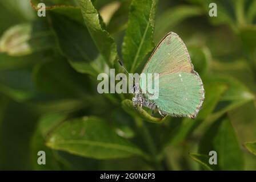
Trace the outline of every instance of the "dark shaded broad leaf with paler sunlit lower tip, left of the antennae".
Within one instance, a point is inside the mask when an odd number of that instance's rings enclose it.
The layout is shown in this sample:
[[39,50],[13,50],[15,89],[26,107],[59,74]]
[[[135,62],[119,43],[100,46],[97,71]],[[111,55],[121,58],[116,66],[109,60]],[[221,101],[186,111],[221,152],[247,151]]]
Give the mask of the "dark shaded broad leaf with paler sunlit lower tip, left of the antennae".
[[97,56],[97,48],[85,26],[56,13],[51,13],[51,21],[61,53],[77,72],[96,78],[105,71],[107,64],[102,56]]

